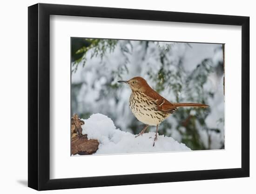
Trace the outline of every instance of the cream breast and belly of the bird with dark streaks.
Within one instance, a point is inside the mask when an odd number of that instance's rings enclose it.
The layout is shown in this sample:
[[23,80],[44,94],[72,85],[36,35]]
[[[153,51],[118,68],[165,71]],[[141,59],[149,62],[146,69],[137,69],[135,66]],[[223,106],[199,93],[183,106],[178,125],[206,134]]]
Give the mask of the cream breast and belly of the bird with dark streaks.
[[129,107],[139,121],[151,126],[158,125],[169,115],[159,111],[155,100],[141,92],[132,92]]

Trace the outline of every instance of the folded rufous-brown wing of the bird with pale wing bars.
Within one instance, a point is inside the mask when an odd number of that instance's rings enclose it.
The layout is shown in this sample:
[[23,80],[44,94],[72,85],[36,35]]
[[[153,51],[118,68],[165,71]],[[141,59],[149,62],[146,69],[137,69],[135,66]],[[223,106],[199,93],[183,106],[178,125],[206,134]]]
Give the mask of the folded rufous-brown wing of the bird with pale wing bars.
[[155,92],[154,90],[148,92],[147,95],[155,100],[155,104],[158,110],[169,114],[175,113],[177,107],[174,104],[170,103],[168,100],[166,100],[164,97],[162,97],[160,94]]

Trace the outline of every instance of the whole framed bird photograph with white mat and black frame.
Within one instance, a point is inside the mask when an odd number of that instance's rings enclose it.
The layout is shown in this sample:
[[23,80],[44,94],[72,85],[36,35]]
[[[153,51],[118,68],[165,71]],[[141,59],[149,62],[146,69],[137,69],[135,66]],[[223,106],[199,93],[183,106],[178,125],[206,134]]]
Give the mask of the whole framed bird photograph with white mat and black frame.
[[28,187],[249,176],[249,17],[28,7]]

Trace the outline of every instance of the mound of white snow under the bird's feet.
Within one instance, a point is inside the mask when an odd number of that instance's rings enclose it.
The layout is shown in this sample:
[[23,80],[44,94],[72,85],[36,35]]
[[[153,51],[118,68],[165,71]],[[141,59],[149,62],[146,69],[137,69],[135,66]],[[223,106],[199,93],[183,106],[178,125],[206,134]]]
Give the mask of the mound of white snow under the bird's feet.
[[84,122],[82,134],[87,134],[88,139],[97,139],[100,143],[99,149],[95,154],[191,150],[185,144],[179,143],[173,138],[164,135],[158,135],[155,147],[153,147],[155,133],[149,132],[135,138],[134,134],[116,129],[114,122],[103,114],[92,114]]

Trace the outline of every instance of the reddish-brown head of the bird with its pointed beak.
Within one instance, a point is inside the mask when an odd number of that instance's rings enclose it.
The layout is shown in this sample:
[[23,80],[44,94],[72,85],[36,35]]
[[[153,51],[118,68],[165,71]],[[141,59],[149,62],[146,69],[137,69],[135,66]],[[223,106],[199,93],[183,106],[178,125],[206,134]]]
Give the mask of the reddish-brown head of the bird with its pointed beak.
[[119,83],[126,83],[135,92],[144,92],[149,86],[146,80],[142,77],[134,77],[128,81],[118,81]]

